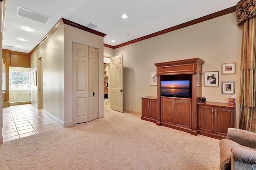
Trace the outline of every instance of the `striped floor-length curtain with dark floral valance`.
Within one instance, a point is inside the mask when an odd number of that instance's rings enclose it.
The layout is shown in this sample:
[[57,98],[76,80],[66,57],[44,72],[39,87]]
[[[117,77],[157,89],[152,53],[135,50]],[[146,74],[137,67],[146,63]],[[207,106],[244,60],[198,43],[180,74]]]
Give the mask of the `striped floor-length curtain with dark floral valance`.
[[256,132],[256,0],[237,6],[237,23],[243,24],[240,84],[240,129]]

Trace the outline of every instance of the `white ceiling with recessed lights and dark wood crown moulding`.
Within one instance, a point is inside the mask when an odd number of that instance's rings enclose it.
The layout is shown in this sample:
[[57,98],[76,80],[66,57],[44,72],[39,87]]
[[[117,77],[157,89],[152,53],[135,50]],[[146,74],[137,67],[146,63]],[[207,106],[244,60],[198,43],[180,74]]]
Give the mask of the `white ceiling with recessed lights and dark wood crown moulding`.
[[[89,22],[98,25],[94,30],[107,34],[104,43],[115,46],[236,6],[238,2],[238,0],[4,1],[6,1],[6,21],[3,49],[25,53],[29,53],[60,18],[84,26]],[[51,20],[44,24],[17,16],[18,6],[48,16]],[[126,14],[128,18],[121,18],[122,14]],[[30,27],[33,31],[25,31],[23,27]],[[27,41],[20,41],[19,38]],[[116,42],[111,42],[112,39]],[[18,45],[22,47],[17,47]]]

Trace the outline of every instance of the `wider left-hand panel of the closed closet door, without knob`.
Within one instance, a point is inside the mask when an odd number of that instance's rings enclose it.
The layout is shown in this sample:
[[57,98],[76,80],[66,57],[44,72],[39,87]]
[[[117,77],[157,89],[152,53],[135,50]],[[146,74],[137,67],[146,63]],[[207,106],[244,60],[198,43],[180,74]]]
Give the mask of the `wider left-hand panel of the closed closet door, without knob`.
[[88,46],[72,44],[72,120],[88,121]]

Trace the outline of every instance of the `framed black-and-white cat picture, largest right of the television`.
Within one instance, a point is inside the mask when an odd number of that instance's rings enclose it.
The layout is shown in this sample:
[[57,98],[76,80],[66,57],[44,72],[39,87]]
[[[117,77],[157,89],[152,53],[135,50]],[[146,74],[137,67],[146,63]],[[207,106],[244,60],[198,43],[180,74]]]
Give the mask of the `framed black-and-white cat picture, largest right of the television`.
[[204,86],[218,87],[219,86],[219,71],[204,72]]

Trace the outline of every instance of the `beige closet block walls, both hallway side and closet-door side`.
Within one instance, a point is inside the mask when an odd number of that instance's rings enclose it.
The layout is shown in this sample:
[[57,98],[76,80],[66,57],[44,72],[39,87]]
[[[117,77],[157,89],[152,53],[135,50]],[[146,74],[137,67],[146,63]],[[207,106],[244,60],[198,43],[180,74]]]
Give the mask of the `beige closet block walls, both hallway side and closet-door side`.
[[[72,125],[72,43],[99,49],[99,118],[103,113],[103,37],[62,25],[32,55],[31,72],[37,70],[38,57],[43,63],[43,109]],[[45,85],[44,85],[45,84]],[[32,103],[37,105],[37,86],[32,86]]]

